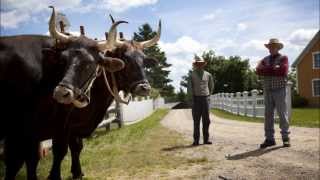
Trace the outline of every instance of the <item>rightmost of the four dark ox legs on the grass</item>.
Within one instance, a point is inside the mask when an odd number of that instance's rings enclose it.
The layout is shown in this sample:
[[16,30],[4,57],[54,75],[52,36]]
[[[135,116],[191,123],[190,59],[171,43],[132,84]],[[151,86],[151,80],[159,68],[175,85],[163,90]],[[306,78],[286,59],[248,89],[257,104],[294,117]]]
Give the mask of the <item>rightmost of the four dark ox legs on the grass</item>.
[[71,173],[73,179],[81,179],[84,174],[81,170],[80,164],[80,153],[83,148],[83,142],[81,138],[72,137],[69,140],[69,148],[71,151],[72,165],[71,165]]

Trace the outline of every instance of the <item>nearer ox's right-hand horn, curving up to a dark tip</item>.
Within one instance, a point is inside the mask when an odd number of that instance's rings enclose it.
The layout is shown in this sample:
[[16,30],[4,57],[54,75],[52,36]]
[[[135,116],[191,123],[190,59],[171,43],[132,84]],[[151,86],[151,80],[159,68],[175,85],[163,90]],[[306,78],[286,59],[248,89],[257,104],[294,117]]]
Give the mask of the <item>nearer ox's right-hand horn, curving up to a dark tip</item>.
[[121,23],[128,23],[127,21],[117,21],[112,24],[109,33],[108,33],[108,40],[107,41],[100,41],[98,42],[98,48],[101,51],[112,50],[118,46],[120,46],[120,42],[117,41],[117,26]]

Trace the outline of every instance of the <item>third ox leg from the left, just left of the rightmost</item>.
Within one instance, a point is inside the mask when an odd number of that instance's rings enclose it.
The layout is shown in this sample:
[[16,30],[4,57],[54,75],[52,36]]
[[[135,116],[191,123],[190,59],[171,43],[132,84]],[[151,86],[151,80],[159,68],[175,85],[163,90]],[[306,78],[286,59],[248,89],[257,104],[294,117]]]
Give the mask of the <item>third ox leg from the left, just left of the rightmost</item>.
[[61,180],[61,162],[67,154],[67,151],[68,145],[65,140],[52,140],[53,164],[48,179]]

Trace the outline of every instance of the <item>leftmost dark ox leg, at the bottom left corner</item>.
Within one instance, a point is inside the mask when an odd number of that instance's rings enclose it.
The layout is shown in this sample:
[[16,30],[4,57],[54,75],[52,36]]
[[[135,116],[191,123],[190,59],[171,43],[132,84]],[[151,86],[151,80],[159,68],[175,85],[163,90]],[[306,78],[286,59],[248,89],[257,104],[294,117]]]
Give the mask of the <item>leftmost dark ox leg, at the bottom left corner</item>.
[[23,147],[19,146],[19,141],[9,137],[6,139],[4,147],[6,164],[5,180],[14,180],[18,171],[21,169],[24,162],[21,149],[23,149]]

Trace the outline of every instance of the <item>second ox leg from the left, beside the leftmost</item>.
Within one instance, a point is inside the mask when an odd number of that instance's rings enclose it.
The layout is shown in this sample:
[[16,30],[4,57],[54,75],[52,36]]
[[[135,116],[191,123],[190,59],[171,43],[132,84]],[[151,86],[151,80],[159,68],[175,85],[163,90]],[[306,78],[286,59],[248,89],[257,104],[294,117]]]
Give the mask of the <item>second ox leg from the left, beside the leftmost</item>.
[[29,144],[29,148],[27,149],[26,154],[26,167],[27,167],[27,175],[28,180],[36,180],[37,179],[37,166],[39,162],[39,144],[38,141],[31,141]]

